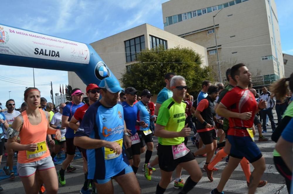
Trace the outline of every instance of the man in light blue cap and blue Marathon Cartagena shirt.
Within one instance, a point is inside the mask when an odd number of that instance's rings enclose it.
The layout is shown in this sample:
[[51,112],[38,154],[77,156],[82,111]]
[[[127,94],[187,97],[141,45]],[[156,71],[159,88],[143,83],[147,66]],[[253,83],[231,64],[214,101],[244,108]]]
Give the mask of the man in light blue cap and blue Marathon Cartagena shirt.
[[88,179],[93,179],[98,193],[114,193],[114,178],[124,193],[139,194],[139,183],[125,154],[131,140],[124,127],[123,108],[117,104],[122,88],[112,77],[104,78],[99,87],[102,98],[86,111],[74,144],[87,149]]

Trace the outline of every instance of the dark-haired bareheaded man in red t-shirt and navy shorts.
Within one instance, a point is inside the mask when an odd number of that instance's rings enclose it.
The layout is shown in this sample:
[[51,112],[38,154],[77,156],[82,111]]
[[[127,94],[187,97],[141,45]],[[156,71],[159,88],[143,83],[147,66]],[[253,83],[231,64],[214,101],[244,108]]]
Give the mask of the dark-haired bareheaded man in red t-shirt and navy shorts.
[[236,64],[231,68],[231,78],[237,82],[237,86],[226,93],[216,109],[219,115],[229,118],[230,158],[217,188],[211,193],[224,193],[222,191],[226,182],[245,156],[254,167],[248,184],[248,193],[252,194],[259,186],[260,178],[265,171],[265,159],[254,143],[251,127],[255,113],[265,108],[266,102],[261,100],[257,106],[253,94],[248,90],[251,74],[244,64]]

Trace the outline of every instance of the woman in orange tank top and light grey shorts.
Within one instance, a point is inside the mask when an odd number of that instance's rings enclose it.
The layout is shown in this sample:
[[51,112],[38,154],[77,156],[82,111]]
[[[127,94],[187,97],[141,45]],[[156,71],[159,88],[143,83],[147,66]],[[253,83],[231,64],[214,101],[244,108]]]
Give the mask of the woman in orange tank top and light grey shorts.
[[18,150],[17,171],[25,188],[25,193],[37,194],[40,185],[35,178],[45,183],[47,193],[58,192],[58,180],[52,157],[46,143],[47,134],[61,138],[60,130],[50,127],[50,114],[39,109],[40,91],[28,88],[24,92],[24,100],[28,109],[15,118],[12,128],[19,132],[20,143],[16,142],[17,135],[8,139],[8,147]]

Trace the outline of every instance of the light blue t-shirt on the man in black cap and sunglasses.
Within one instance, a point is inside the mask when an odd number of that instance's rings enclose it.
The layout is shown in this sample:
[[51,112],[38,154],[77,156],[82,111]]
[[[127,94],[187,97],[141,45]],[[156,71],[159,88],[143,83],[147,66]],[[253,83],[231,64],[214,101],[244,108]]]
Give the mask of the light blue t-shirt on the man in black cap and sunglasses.
[[[139,101],[138,103],[136,103],[135,106],[137,106],[137,120],[144,121],[146,124],[150,126],[151,125],[150,124],[151,111],[149,110],[149,106],[142,103],[142,101]],[[136,130],[147,131],[149,130],[149,126],[146,128],[143,128],[142,126],[137,125]]]

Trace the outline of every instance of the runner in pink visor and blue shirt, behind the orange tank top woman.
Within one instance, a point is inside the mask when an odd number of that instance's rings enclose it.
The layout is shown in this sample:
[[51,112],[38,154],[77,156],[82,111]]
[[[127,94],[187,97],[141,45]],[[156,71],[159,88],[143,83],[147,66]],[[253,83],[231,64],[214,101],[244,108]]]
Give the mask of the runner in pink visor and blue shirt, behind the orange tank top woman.
[[72,101],[63,108],[61,125],[62,127],[67,127],[65,133],[67,156],[62,162],[61,169],[58,171],[58,180],[61,185],[66,184],[64,177],[65,169],[67,169],[67,172],[76,170],[75,167],[70,166],[70,162],[73,160],[75,155],[76,146],[73,144],[74,130],[69,127],[69,121],[74,115],[76,109],[84,105],[84,103],[81,102],[83,94],[84,93],[79,88],[73,89],[71,92]]

